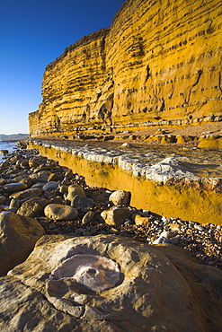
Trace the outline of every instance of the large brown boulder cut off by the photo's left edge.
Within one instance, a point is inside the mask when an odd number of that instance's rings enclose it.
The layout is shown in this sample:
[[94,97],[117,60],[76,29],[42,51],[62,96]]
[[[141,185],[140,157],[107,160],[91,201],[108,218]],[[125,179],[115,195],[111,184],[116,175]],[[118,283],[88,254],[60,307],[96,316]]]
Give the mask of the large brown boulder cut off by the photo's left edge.
[[37,220],[12,212],[0,214],[0,275],[22,263],[45,231]]

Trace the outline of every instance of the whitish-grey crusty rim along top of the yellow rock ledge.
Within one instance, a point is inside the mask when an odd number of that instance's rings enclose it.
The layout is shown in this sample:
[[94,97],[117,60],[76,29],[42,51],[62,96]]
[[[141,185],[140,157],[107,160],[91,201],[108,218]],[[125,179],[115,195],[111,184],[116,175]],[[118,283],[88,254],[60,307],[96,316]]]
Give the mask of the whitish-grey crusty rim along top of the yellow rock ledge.
[[[86,144],[85,146],[73,146],[66,147],[63,144],[44,142],[38,139],[31,139],[34,144],[39,144],[46,148],[54,148],[61,152],[71,153],[80,158],[84,158],[87,161],[92,162],[104,162],[108,164],[118,165],[122,170],[129,170],[133,175],[137,177],[143,177],[145,179],[154,180],[156,182],[166,183],[169,179],[187,179],[187,180],[200,180],[203,181],[204,177],[199,177],[195,175],[192,170],[192,163],[184,162],[179,160],[178,157],[167,157],[161,162],[156,162],[154,164],[146,163],[143,157],[139,159],[139,154],[129,153],[129,151],[124,151],[123,149],[108,150],[103,147],[95,147],[91,144]],[[207,178],[211,181],[221,179],[221,178]]]

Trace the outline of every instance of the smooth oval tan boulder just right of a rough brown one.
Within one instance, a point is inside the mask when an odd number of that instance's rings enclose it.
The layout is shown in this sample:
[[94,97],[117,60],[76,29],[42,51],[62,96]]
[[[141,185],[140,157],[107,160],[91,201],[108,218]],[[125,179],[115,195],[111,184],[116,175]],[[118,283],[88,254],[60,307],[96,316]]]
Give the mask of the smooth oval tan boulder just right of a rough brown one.
[[69,205],[49,204],[45,207],[44,214],[49,219],[73,220],[77,217],[78,212],[74,207]]

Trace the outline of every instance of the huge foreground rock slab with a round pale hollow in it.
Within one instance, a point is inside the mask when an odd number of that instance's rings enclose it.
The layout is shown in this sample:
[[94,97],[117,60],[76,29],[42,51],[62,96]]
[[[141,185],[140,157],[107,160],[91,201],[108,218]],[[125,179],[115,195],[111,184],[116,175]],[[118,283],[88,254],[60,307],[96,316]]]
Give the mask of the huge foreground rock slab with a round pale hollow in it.
[[221,278],[218,268],[171,245],[112,235],[44,236],[24,263],[0,278],[0,328],[219,331]]

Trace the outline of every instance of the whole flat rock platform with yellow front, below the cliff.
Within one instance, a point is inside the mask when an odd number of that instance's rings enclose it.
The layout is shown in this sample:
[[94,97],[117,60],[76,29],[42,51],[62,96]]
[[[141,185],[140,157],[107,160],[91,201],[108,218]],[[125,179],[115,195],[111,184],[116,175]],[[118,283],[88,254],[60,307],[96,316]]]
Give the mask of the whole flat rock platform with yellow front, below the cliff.
[[222,224],[222,151],[195,144],[32,138],[87,185],[131,192],[131,205],[166,217]]

